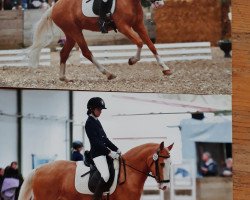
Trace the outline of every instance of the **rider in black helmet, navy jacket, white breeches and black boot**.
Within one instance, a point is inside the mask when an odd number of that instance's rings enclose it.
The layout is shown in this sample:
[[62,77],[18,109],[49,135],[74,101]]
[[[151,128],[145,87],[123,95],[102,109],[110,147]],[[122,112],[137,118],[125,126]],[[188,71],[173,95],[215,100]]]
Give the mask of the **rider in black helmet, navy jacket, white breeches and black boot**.
[[87,115],[89,116],[85,130],[90,141],[90,153],[97,170],[101,174],[101,179],[97,184],[94,200],[102,198],[103,186],[108,182],[110,174],[106,156],[118,159],[120,150],[108,139],[103,127],[98,120],[102,109],[106,109],[104,101],[100,97],[93,97],[87,104]]

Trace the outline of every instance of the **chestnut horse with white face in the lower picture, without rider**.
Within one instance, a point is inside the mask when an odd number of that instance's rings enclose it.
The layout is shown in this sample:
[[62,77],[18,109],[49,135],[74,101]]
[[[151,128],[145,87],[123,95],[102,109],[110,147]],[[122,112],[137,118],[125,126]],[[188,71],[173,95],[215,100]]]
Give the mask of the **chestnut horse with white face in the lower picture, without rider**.
[[[169,151],[172,146],[164,148],[163,142],[160,145],[150,143],[124,154],[126,181],[117,185],[110,200],[139,200],[147,176],[155,177],[159,189],[166,189],[170,172]],[[32,171],[22,185],[18,200],[29,200],[32,194],[35,200],[90,200],[91,195],[76,191],[75,170],[75,162],[56,161]],[[124,171],[120,173],[120,181],[123,181]]]

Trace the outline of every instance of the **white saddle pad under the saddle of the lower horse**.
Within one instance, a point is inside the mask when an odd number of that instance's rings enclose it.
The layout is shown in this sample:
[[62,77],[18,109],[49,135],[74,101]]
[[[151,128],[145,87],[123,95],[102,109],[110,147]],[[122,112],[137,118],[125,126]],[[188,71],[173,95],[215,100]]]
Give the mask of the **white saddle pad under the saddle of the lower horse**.
[[[114,182],[110,188],[109,194],[112,194],[117,186],[117,179],[119,174],[119,161],[114,161],[114,168],[115,168],[115,178]],[[75,187],[76,191],[82,194],[93,194],[88,187],[89,182],[89,174],[87,174],[84,177],[81,177],[81,175],[85,174],[89,171],[89,167],[85,166],[83,161],[76,162],[76,174],[75,174]]]

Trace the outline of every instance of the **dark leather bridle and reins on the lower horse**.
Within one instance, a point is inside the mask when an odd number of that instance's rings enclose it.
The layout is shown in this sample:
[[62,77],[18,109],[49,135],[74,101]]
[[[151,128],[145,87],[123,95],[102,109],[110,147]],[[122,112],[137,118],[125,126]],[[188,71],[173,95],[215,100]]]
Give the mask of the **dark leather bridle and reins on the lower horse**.
[[153,161],[149,166],[149,167],[151,167],[153,164],[155,164],[155,175],[152,175],[151,172],[145,173],[145,172],[137,169],[136,167],[133,167],[130,164],[127,164],[126,161],[122,157],[120,157],[120,162],[123,164],[125,180],[120,182],[119,184],[121,185],[121,184],[126,182],[126,177],[127,177],[127,175],[126,175],[126,166],[128,166],[129,168],[131,168],[131,169],[133,169],[133,170],[135,170],[135,171],[137,171],[137,172],[139,172],[141,174],[144,174],[145,176],[149,176],[149,177],[154,178],[157,183],[169,183],[170,180],[160,179],[159,158],[167,159],[167,158],[170,158],[170,156],[160,155],[160,149],[158,149],[157,152],[153,154]]

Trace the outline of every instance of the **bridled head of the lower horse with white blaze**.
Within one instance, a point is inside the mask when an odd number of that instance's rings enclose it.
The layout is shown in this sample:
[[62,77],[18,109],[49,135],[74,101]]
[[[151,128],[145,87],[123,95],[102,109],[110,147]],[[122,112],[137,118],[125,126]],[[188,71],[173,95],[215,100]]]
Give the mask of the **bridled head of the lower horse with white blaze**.
[[155,153],[147,159],[148,166],[155,180],[159,184],[159,189],[165,190],[169,187],[170,182],[170,150],[173,144],[164,148],[162,142]]

